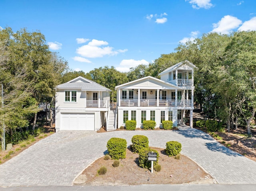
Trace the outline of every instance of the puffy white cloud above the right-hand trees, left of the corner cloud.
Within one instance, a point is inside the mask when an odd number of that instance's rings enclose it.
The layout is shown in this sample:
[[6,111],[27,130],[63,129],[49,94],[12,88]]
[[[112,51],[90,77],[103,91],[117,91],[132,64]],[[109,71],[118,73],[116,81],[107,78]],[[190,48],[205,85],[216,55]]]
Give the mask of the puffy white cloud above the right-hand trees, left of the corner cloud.
[[218,23],[214,23],[212,32],[228,34],[233,29],[238,28],[242,21],[236,17],[226,15]]

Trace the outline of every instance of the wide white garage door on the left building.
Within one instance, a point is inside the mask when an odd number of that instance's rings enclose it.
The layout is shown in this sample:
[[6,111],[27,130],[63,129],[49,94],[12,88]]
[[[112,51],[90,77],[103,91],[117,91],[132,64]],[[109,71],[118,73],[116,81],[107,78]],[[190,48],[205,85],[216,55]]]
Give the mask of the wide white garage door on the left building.
[[62,113],[60,130],[94,131],[94,113]]

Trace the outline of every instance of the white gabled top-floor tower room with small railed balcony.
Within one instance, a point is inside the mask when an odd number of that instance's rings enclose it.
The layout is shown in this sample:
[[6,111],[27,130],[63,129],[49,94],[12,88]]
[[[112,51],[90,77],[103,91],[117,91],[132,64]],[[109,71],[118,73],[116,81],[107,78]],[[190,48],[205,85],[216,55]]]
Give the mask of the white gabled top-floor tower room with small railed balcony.
[[173,85],[191,87],[194,86],[194,68],[196,68],[194,64],[185,60],[167,68],[158,76],[162,81]]

